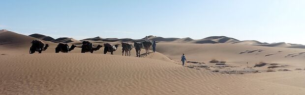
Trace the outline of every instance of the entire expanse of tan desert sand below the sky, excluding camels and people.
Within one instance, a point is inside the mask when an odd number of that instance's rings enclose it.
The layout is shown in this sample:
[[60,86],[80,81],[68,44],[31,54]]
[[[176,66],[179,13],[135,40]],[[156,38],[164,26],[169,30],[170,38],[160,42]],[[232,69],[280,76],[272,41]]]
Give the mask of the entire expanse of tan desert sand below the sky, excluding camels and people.
[[[36,37],[36,38],[34,38]],[[35,39],[50,47],[29,54]],[[162,38],[148,56],[114,55],[103,48],[55,53],[58,43],[81,46],[69,37],[52,40],[0,31],[0,95],[304,95],[305,49],[234,38]],[[88,38],[94,46],[142,39]],[[208,43],[207,43],[208,42]],[[205,43],[205,44],[202,44]],[[215,44],[212,44],[215,43]],[[142,49],[141,54],[145,52]],[[182,53],[187,63],[180,62]],[[217,63],[210,61],[217,60]],[[220,61],[223,65],[219,64]],[[248,63],[248,64],[246,64]],[[264,63],[264,64],[263,64]]]

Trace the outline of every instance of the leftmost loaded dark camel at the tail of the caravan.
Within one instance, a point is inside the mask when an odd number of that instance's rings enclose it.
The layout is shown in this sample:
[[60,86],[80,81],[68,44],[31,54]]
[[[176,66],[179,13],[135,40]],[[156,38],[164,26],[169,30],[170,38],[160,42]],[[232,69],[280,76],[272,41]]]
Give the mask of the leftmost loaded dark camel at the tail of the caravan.
[[35,51],[41,53],[41,51],[45,51],[49,47],[49,44],[44,44],[40,40],[33,40],[31,44],[32,46],[30,47],[30,54],[35,53]]

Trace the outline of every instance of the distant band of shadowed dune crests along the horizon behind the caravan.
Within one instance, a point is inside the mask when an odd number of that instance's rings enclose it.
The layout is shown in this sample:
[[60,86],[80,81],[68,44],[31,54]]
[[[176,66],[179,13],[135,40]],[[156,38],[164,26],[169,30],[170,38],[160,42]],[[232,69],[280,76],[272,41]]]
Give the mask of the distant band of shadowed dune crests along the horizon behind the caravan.
[[[41,34],[32,34],[32,35],[41,35]],[[39,38],[39,37],[36,37]],[[157,37],[157,36],[148,36],[148,38],[151,41],[156,41],[157,43],[187,43],[187,44],[219,44],[219,43],[230,43],[230,44],[242,44],[242,45],[253,45],[253,46],[264,46],[264,47],[281,47],[281,48],[305,48],[304,45],[300,44],[286,44],[284,42],[281,43],[262,43],[255,40],[246,40],[246,41],[240,41],[234,38],[226,37],[226,36],[211,36],[206,37],[199,40],[194,40],[189,37],[187,38],[163,38],[163,37]],[[43,39],[43,38],[39,38]],[[64,40],[63,40],[64,39]],[[71,40],[70,40],[71,39]],[[61,41],[58,41],[61,40]],[[122,43],[122,42],[143,42],[144,38],[142,39],[130,39],[130,38],[101,38],[101,37],[94,37],[94,38],[87,38],[80,41],[101,41],[104,43],[107,42],[113,42],[113,43]],[[70,44],[79,44],[78,40],[75,40],[73,38],[58,38],[55,40],[52,40],[54,43],[70,43]],[[75,42],[75,43],[71,43]]]

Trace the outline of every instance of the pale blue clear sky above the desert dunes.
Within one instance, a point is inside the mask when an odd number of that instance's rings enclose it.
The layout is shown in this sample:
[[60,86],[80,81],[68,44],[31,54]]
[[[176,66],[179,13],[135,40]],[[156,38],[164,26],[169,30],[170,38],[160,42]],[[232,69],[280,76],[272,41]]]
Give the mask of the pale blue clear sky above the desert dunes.
[[305,0],[0,0],[0,29],[77,40],[227,36],[305,45]]

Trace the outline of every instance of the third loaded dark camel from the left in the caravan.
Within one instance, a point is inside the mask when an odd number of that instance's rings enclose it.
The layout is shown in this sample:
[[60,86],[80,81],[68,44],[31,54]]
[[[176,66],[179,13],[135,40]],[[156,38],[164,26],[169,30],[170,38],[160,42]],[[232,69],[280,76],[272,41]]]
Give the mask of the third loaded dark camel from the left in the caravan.
[[103,46],[101,45],[97,45],[97,47],[93,47],[92,43],[90,43],[89,41],[83,41],[83,45],[82,45],[82,53],[85,52],[91,52],[93,53],[93,51],[98,50],[99,48],[102,48]]

